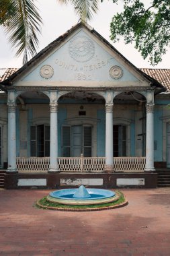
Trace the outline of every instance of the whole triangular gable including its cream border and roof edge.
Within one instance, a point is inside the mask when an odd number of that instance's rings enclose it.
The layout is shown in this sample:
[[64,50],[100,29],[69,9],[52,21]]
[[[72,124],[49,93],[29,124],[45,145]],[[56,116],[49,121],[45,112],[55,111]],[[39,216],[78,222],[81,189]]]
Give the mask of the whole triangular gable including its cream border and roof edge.
[[89,26],[78,24],[13,77],[13,86],[147,86],[151,80]]

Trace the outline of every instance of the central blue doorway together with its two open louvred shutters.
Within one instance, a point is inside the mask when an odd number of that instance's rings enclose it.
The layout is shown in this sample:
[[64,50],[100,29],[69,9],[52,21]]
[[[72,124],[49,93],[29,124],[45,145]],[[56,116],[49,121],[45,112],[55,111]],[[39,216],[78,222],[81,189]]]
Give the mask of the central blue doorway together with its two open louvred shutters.
[[62,127],[62,156],[91,156],[91,126]]

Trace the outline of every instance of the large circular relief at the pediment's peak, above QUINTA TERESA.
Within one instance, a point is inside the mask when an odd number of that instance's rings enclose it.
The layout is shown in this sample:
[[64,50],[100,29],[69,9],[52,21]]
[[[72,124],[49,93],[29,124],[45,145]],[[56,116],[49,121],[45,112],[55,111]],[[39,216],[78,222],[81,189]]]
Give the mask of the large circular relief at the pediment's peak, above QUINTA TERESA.
[[95,46],[93,41],[86,36],[76,37],[69,43],[69,53],[71,58],[77,62],[89,61],[95,53]]

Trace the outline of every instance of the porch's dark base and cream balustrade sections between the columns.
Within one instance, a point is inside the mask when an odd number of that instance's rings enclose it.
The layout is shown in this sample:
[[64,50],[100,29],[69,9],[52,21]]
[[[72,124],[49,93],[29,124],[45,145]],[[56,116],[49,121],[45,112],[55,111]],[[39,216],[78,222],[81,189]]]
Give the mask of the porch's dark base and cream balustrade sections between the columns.
[[114,157],[114,171],[105,172],[104,157],[58,157],[60,172],[48,172],[49,157],[17,157],[18,172],[5,174],[6,189],[64,189],[85,185],[115,189],[155,188],[157,172],[144,172],[145,157]]

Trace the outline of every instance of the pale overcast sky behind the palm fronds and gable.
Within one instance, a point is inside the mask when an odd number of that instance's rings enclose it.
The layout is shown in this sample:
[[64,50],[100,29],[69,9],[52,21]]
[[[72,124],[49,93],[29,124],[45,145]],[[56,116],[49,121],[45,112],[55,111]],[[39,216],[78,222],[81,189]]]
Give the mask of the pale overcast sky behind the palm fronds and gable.
[[[146,2],[148,3],[148,1]],[[72,5],[60,5],[56,0],[39,0],[38,8],[40,9],[40,15],[44,23],[42,26],[42,35],[39,36],[39,52],[50,42],[58,38],[58,36],[67,32],[72,26],[75,26],[79,21],[79,17],[75,15]],[[124,44],[123,39],[116,43],[110,40],[110,22],[112,22],[112,17],[122,10],[123,1],[120,1],[119,5],[116,5],[112,3],[112,0],[104,0],[99,5],[99,11],[88,24],[136,67],[170,68],[170,49],[163,56],[163,61],[153,67],[147,60],[142,59],[140,53],[134,48],[134,44]],[[22,67],[22,56],[15,57],[15,49],[11,49],[5,32],[0,28],[0,69],[7,67]]]

